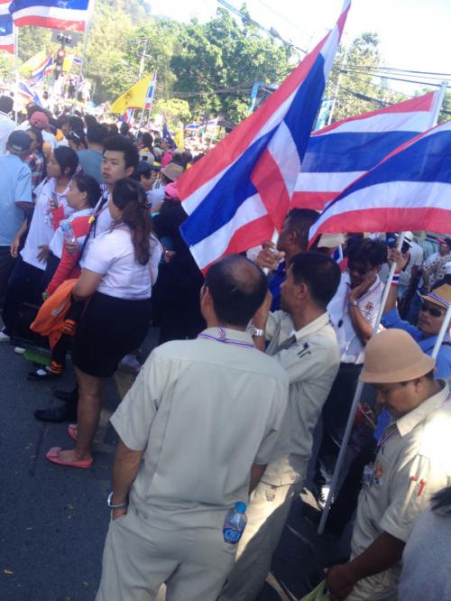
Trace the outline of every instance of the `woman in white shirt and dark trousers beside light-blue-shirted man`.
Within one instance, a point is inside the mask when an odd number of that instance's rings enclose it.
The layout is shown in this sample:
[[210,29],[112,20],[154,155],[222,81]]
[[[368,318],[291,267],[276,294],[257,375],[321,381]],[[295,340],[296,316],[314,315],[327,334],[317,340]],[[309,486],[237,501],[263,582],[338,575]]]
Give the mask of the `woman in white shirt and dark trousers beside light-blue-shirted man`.
[[[70,148],[55,148],[47,163],[47,179],[34,190],[36,204],[25,245],[17,257],[8,282],[3,309],[5,328],[0,341],[7,341],[14,332],[15,319],[23,302],[40,304],[45,287],[44,271],[49,257],[49,245],[60,220],[69,217],[66,196],[69,182],[78,167],[78,156]],[[22,236],[23,230],[18,236]],[[58,264],[54,264],[56,269]]]

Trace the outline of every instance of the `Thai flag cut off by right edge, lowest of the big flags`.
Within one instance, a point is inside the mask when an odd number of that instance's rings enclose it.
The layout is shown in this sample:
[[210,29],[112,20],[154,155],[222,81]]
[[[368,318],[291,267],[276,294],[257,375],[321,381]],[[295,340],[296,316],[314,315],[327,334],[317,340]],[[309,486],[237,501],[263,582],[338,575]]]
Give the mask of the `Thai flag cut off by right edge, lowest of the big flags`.
[[451,234],[451,121],[419,134],[355,180],[310,228],[326,232],[429,230]]

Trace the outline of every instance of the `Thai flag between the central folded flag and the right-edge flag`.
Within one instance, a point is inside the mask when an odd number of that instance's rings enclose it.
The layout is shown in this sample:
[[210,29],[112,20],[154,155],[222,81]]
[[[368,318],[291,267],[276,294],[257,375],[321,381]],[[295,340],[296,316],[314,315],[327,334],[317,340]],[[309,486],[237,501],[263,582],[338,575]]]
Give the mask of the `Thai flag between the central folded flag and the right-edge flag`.
[[400,144],[432,125],[437,93],[344,119],[311,134],[291,200],[322,210]]

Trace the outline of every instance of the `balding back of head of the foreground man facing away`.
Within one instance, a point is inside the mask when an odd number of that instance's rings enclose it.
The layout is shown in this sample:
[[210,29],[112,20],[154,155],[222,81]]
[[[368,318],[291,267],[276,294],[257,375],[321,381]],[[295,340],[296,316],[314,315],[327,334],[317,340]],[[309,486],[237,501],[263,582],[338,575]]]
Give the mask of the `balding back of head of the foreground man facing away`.
[[228,254],[207,271],[217,318],[224,324],[245,327],[262,305],[268,282],[260,267],[241,254]]

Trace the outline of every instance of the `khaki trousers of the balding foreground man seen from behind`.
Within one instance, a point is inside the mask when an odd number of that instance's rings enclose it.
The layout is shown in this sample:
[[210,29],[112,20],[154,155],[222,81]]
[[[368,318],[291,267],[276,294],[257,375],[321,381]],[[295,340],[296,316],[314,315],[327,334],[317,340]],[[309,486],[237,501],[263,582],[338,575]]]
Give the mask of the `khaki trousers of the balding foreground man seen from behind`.
[[170,517],[144,522],[130,509],[110,523],[96,601],[154,601],[162,583],[166,601],[216,601],[235,559],[225,515],[215,527],[189,525],[188,516],[183,527]]

